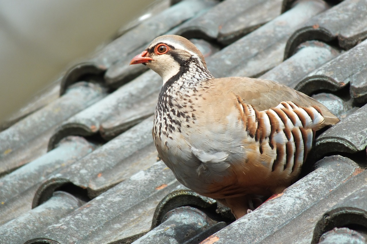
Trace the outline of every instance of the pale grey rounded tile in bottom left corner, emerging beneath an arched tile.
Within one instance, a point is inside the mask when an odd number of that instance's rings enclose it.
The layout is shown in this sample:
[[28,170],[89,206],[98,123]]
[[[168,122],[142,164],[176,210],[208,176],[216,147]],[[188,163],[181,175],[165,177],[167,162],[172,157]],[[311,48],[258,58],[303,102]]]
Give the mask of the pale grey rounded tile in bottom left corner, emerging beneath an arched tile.
[[81,206],[66,192],[55,192],[47,202],[0,226],[1,243],[24,243],[28,238]]

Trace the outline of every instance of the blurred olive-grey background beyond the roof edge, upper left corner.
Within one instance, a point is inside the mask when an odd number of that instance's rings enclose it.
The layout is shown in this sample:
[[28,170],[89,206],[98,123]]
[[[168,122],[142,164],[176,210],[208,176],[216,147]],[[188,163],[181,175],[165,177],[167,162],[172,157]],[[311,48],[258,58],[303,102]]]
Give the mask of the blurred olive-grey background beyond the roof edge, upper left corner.
[[163,0],[0,0],[0,121]]

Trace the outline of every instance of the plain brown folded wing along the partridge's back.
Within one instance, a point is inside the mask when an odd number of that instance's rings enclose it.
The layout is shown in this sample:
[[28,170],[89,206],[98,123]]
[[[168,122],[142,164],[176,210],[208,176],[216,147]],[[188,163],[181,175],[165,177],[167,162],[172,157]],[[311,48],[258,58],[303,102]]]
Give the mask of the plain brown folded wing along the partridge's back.
[[292,101],[301,107],[316,106],[320,108],[325,118],[323,125],[335,125],[340,121],[327,107],[312,97],[275,81],[247,77],[225,77],[214,79],[213,82],[215,82],[213,84],[215,89],[232,91],[258,111],[276,107],[282,101]]

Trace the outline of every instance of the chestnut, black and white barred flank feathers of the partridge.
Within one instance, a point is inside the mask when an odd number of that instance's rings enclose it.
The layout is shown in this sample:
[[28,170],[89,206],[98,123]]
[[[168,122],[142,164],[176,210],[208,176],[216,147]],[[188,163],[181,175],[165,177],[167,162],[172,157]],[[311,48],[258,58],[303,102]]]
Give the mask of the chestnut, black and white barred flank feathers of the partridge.
[[315,131],[326,126],[320,108],[300,107],[291,101],[283,101],[275,108],[257,111],[244,104],[237,96],[245,130],[259,142],[267,141],[276,158],[270,162],[272,171],[290,171],[300,169],[315,139]]

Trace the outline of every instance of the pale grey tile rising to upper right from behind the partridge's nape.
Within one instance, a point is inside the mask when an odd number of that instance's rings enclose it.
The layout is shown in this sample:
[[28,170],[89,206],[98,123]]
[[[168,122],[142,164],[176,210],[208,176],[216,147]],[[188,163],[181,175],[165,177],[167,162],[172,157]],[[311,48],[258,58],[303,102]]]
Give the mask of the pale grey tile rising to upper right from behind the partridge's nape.
[[319,0],[301,0],[283,13],[207,61],[214,77],[257,77],[283,61],[286,41],[299,25],[328,8]]

